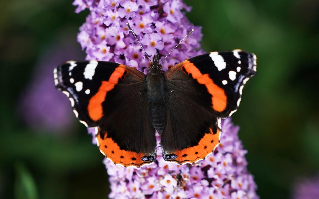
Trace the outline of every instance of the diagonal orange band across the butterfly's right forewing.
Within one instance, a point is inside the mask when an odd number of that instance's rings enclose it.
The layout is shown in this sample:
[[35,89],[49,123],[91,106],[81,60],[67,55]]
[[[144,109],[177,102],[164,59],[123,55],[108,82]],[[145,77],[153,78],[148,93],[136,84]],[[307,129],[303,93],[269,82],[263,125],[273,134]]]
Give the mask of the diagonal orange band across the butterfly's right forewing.
[[225,110],[227,105],[227,96],[225,95],[225,91],[217,86],[208,74],[203,75],[189,60],[183,61],[183,66],[189,74],[192,74],[192,77],[196,79],[198,83],[206,86],[208,92],[212,96],[212,108],[219,112]]

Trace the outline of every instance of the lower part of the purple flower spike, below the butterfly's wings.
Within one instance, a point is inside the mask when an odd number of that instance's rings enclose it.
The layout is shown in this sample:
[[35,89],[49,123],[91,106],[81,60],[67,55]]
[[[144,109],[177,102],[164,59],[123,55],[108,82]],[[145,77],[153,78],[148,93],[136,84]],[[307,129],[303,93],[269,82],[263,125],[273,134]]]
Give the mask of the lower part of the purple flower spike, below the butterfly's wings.
[[104,159],[110,183],[109,198],[258,198],[253,176],[238,138],[238,126],[222,121],[220,144],[197,164],[177,165],[162,158],[157,148],[154,164],[135,169]]

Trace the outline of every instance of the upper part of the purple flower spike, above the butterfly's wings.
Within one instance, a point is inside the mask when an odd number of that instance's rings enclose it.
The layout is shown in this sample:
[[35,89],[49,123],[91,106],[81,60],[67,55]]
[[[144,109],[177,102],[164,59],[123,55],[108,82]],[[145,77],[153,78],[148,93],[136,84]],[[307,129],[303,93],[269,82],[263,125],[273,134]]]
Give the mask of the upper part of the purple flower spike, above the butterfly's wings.
[[165,56],[191,30],[195,31],[163,61],[163,70],[204,52],[201,27],[189,23],[181,0],[75,0],[76,12],[90,9],[78,42],[87,60],[113,61],[146,73],[149,60],[129,32],[129,23],[151,57]]

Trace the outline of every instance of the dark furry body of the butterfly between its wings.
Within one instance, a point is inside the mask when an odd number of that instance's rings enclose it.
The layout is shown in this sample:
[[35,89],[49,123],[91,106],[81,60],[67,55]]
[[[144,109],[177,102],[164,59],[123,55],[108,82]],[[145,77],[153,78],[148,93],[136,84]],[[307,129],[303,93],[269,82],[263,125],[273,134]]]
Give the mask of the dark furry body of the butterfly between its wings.
[[146,94],[149,103],[152,126],[161,133],[165,127],[164,101],[167,95],[164,75],[160,73],[146,76]]

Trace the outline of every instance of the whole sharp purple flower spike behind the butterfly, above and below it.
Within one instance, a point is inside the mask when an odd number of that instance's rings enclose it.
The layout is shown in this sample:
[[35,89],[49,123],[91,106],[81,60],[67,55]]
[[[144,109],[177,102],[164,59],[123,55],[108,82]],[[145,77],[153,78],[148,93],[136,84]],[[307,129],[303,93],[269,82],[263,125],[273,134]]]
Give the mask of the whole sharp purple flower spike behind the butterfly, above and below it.
[[[129,23],[146,52],[164,57],[191,30],[194,32],[164,60],[163,70],[204,53],[199,42],[201,27],[195,27],[183,11],[181,0],[75,0],[76,12],[90,9],[81,26],[78,42],[87,60],[114,61],[147,72],[149,60],[129,32]],[[110,198],[258,198],[239,128],[230,119],[222,122],[221,142],[214,153],[197,164],[177,165],[162,158],[135,169],[114,165],[105,159],[111,183]],[[88,129],[94,136],[94,131]],[[159,138],[158,138],[159,139]],[[159,140],[158,140],[159,141]]]

